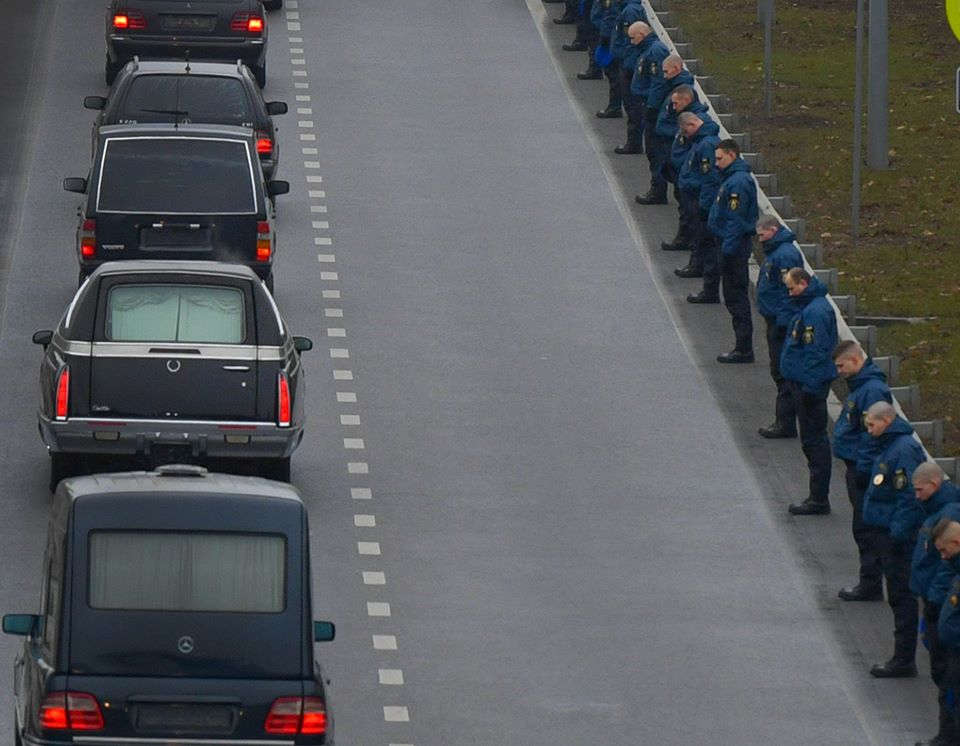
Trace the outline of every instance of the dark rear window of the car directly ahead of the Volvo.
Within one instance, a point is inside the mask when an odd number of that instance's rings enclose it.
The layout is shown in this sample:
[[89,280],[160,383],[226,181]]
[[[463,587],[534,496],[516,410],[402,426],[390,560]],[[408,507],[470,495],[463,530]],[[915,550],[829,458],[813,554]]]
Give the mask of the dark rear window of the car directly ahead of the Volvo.
[[215,75],[140,75],[123,98],[118,119],[253,126],[243,82]]

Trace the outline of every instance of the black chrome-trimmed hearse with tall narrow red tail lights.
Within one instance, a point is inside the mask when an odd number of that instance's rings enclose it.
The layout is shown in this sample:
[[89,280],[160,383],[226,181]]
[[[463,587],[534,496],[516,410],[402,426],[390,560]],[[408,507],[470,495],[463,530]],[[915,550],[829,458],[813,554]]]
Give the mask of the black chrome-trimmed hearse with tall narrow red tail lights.
[[313,343],[290,334],[246,267],[111,262],[33,341],[44,347],[38,420],[51,489],[116,469],[120,456],[290,478],[304,425],[300,353]]

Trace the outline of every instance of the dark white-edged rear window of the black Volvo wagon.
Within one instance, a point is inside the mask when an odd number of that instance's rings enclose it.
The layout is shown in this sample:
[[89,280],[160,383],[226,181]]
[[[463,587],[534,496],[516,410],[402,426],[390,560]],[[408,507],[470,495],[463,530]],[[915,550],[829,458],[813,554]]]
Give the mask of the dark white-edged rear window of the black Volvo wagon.
[[253,179],[242,140],[111,137],[103,151],[97,211],[253,215]]

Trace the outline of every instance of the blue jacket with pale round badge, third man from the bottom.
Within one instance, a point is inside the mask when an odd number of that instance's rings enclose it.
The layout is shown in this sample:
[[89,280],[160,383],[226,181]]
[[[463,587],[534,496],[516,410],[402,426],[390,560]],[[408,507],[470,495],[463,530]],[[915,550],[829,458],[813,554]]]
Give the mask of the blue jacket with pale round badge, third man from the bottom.
[[863,522],[886,528],[897,541],[912,544],[920,515],[910,477],[927,456],[913,437],[913,427],[902,417],[891,422],[877,440],[879,449],[863,495]]

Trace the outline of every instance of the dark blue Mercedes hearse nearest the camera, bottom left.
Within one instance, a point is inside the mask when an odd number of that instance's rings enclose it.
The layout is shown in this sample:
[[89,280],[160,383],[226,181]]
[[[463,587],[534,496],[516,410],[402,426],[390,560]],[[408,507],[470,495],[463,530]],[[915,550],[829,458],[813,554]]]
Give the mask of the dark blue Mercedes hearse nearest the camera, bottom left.
[[14,664],[18,746],[332,744],[297,491],[170,465],[53,500]]

